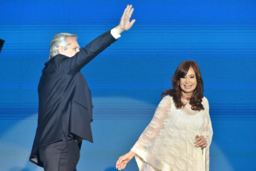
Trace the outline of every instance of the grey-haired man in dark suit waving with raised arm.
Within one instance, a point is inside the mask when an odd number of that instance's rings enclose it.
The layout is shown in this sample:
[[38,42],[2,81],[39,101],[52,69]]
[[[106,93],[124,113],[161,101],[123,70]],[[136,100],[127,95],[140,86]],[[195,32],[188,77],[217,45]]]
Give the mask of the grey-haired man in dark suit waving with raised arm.
[[39,81],[39,112],[30,161],[47,171],[76,170],[82,140],[92,141],[92,97],[80,69],[129,30],[132,5],[119,25],[81,48],[77,36],[60,33],[51,40],[49,61]]

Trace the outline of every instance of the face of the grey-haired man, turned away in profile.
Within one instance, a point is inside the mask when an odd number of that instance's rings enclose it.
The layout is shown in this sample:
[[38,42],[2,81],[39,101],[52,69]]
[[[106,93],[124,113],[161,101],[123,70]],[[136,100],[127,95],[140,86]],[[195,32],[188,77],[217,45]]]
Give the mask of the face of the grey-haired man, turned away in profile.
[[66,57],[74,57],[75,54],[77,54],[77,52],[79,52],[80,50],[80,46],[77,43],[77,40],[74,39],[73,37],[68,37],[68,48],[64,49],[64,47],[60,46],[59,47],[59,52],[60,54],[65,55]]

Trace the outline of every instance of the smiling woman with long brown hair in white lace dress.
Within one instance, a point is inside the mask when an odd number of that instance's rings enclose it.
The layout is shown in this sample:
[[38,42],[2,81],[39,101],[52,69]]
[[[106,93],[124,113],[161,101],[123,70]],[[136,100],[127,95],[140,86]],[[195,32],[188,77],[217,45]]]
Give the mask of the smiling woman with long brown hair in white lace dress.
[[209,170],[213,130],[196,62],[182,62],[172,84],[173,89],[161,94],[166,96],[138,141],[118,159],[118,170],[123,170],[133,157],[140,171]]

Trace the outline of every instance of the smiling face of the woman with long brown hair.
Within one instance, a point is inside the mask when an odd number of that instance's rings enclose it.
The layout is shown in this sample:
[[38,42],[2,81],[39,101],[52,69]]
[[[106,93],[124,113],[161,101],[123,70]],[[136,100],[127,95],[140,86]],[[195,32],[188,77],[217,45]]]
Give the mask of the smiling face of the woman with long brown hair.
[[189,68],[185,77],[182,77],[179,80],[179,86],[182,88],[182,94],[185,95],[185,97],[191,97],[194,89],[196,89],[196,85],[195,71],[193,71],[193,68]]

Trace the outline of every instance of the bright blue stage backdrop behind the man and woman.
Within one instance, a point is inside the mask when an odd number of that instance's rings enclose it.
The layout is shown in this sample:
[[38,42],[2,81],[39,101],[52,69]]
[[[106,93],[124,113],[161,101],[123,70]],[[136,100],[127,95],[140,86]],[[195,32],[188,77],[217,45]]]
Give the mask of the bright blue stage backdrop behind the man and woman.
[[[256,170],[256,1],[0,1],[0,170],[40,171],[28,161],[37,122],[37,84],[52,37],[76,33],[83,47],[118,25],[131,30],[83,68],[92,91],[95,143],[78,170],[115,170],[153,117],[184,60],[202,72],[214,129],[210,170]],[[125,170],[138,170],[132,159]]]

